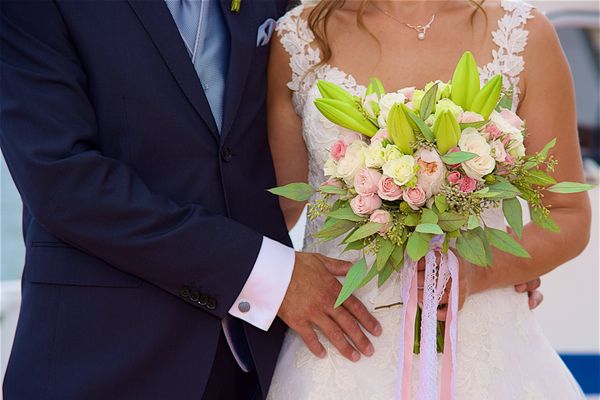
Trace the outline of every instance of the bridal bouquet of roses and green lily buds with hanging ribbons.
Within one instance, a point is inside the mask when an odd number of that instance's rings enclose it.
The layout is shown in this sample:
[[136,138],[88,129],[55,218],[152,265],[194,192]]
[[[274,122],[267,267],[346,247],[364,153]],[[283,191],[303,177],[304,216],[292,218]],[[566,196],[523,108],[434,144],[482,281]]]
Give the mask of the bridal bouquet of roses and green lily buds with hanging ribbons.
[[[316,188],[292,183],[271,192],[297,201],[318,194],[308,211],[310,218],[325,217],[316,236],[341,240],[344,251],[363,251],[347,274],[336,306],[373,279],[382,285],[392,273],[402,274],[401,347],[406,348],[400,375],[405,382],[410,382],[406,355],[413,350],[421,354],[422,377],[436,365],[436,348],[444,350],[453,365],[458,307],[458,261],[453,251],[481,267],[492,265],[492,247],[529,257],[511,234],[486,225],[484,211],[501,209],[514,235],[521,238],[521,198],[534,223],[558,231],[542,203],[544,191],[575,193],[590,185],[552,178],[557,161],[550,150],[556,140],[526,155],[525,123],[510,110],[512,96],[502,93],[502,77],[480,87],[469,52],[450,82],[431,82],[423,89],[385,93],[378,79],[371,81],[364,96],[325,81],[319,81],[318,88],[322,98],[315,101],[316,107],[341,127],[325,163],[327,180]],[[370,266],[367,254],[373,255]],[[424,257],[425,287],[419,288],[424,290],[423,305],[417,309],[416,262]],[[442,334],[435,315],[450,280]],[[442,381],[442,391],[453,391],[452,380],[450,376],[445,388]],[[437,390],[427,382],[421,386],[423,391]]]

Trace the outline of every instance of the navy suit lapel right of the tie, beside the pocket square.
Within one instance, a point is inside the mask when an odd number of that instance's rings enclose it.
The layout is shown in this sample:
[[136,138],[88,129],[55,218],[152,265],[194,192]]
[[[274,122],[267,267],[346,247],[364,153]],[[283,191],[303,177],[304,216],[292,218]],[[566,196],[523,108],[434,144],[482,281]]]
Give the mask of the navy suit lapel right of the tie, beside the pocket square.
[[229,69],[224,94],[223,126],[221,128],[221,139],[224,139],[231,130],[242,100],[256,46],[256,26],[253,1],[242,1],[240,12],[237,14],[230,10],[231,0],[219,1],[223,7],[223,14],[231,37]]

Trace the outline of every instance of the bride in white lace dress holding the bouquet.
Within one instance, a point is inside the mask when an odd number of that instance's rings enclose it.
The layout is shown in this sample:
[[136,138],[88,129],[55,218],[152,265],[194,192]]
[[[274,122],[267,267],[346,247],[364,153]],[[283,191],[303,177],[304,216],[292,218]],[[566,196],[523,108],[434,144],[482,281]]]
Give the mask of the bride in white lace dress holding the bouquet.
[[[426,26],[420,32],[419,24]],[[313,105],[318,79],[355,94],[365,90],[372,76],[379,77],[387,91],[422,87],[434,78],[449,80],[465,50],[475,55],[483,81],[501,73],[507,92],[513,88],[513,110],[529,128],[527,149],[538,151],[558,137],[556,178],[583,179],[569,68],[550,23],[526,3],[322,0],[288,12],[277,31],[279,41],[272,46],[269,66],[268,111],[279,185],[308,181],[315,186],[324,181],[323,163],[338,131]],[[551,271],[587,244],[587,195],[548,193],[545,202],[552,205],[561,232],[527,226],[523,244],[531,259],[498,253],[489,269],[461,261],[458,399],[583,398],[530,312],[527,295],[512,288]],[[302,208],[282,200],[288,227],[295,225]],[[488,225],[505,229],[501,213],[490,212],[484,218]],[[356,259],[356,254],[340,254],[335,243],[313,240],[321,224],[319,219],[308,222],[305,250]],[[383,327],[381,336],[368,335],[375,348],[372,356],[352,362],[321,340],[327,353],[317,357],[290,330],[268,398],[394,398],[401,306],[390,305],[399,301],[397,279],[381,288],[367,285],[356,293]],[[418,363],[418,356],[414,358]],[[413,393],[416,386],[413,382]]]

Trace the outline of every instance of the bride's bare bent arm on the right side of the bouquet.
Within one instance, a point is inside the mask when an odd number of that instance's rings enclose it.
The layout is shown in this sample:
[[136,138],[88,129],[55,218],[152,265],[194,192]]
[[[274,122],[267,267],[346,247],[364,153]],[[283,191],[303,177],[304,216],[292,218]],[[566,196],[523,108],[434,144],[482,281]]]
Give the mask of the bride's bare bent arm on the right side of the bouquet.
[[[523,96],[518,113],[526,121],[527,151],[542,149],[552,138],[552,151],[559,161],[553,176],[560,181],[584,181],[577,134],[577,116],[571,72],[556,32],[550,22],[536,12],[528,23],[529,44],[525,50],[522,75]],[[489,269],[468,268],[471,292],[505,287],[529,281],[581,253],[589,241],[591,209],[587,193],[561,195],[544,193],[544,204],[551,206],[550,216],[560,227],[552,233],[533,223],[523,230],[522,244],[531,258],[517,258],[506,253],[494,254]]]

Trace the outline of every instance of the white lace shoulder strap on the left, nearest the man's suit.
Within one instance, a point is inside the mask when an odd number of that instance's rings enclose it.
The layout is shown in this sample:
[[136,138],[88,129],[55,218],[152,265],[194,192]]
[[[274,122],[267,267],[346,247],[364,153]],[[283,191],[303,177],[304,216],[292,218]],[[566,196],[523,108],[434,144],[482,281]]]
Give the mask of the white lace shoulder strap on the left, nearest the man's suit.
[[305,9],[305,6],[300,4],[288,11],[277,21],[275,29],[281,45],[290,56],[292,76],[287,86],[294,92],[292,100],[299,114],[304,107],[307,92],[316,79],[314,67],[321,60],[319,48],[311,45],[315,36],[306,19],[302,17]]

